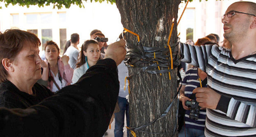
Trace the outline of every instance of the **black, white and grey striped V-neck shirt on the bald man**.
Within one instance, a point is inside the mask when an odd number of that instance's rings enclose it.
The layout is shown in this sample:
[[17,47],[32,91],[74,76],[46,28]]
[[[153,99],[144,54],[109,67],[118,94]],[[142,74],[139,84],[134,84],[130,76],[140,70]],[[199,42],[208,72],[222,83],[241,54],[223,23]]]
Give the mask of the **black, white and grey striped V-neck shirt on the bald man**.
[[208,87],[219,93],[216,110],[206,111],[206,137],[256,136],[256,55],[235,60],[217,45],[181,43],[183,62],[207,73]]

